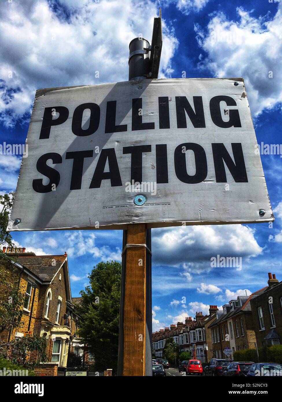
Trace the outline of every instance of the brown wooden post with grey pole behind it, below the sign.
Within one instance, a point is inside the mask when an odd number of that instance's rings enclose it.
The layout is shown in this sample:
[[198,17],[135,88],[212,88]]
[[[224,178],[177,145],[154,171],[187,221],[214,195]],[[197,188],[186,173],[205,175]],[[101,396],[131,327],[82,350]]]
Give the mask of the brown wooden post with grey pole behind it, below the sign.
[[[124,239],[119,328],[118,375],[152,375],[152,294],[146,225],[129,224]],[[150,258],[150,257],[149,257]],[[147,322],[147,324],[146,324]]]

